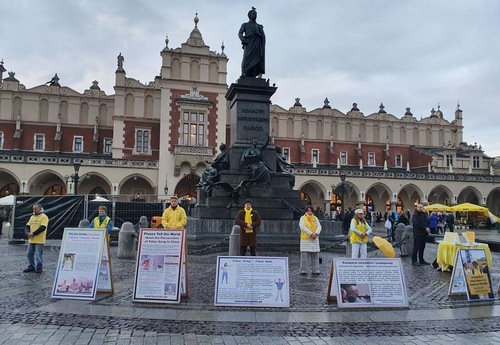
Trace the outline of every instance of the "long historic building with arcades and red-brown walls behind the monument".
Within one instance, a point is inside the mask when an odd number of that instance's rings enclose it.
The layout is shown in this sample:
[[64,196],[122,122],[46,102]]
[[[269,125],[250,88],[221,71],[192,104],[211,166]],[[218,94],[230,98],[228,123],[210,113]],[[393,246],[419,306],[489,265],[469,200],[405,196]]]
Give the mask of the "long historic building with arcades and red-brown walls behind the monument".
[[[160,75],[146,84],[127,76],[119,54],[113,95],[97,81],[80,93],[57,74],[26,88],[2,62],[0,196],[195,200],[206,162],[230,143],[228,58],[223,45],[220,53],[205,45],[197,17],[181,47],[168,43]],[[468,201],[500,212],[493,159],[463,142],[460,106],[451,122],[437,109],[417,119],[409,108],[398,117],[381,104],[365,116],[356,104],[343,113],[325,99],[307,111],[296,99],[288,110],[271,106],[271,140],[294,165],[295,188],[321,211],[342,201],[381,212]]]

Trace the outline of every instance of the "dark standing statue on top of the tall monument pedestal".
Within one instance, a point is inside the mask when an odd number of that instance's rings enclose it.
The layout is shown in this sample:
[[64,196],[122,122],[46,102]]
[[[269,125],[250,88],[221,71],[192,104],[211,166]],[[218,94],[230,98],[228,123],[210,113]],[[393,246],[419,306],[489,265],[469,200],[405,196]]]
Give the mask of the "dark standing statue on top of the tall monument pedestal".
[[265,73],[266,36],[264,27],[257,24],[255,7],[248,12],[248,22],[241,24],[238,37],[243,48],[241,75],[244,77],[261,77]]

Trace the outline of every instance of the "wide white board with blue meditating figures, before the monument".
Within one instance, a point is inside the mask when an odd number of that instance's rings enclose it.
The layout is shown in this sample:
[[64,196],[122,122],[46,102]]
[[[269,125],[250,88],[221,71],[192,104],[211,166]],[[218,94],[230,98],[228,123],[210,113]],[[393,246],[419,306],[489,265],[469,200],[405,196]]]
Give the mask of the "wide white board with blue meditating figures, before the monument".
[[288,258],[218,256],[216,306],[290,307]]

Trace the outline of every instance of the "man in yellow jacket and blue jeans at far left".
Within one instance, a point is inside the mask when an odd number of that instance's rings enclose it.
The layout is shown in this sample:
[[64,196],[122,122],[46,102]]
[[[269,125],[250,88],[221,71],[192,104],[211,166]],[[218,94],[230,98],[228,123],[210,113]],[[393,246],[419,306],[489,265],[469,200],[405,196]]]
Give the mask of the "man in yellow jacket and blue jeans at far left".
[[47,237],[49,227],[49,217],[43,213],[40,204],[33,205],[33,215],[30,217],[24,234],[28,238],[28,268],[23,272],[42,273],[43,271],[43,245]]

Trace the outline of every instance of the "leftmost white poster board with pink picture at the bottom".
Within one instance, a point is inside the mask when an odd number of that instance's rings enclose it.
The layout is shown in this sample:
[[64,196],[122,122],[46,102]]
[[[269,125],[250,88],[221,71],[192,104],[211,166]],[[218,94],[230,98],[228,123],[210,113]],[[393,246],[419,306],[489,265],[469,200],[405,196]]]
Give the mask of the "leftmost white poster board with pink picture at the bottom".
[[105,243],[106,229],[64,229],[53,298],[95,299]]

